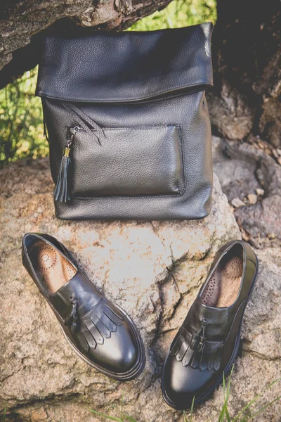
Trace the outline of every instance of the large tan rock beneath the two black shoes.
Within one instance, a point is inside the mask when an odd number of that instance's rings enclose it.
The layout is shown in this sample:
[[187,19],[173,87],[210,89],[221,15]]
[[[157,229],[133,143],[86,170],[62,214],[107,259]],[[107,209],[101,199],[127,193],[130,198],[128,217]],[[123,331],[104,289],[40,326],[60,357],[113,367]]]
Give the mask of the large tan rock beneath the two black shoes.
[[[214,253],[240,237],[218,179],[211,214],[191,222],[63,222],[54,217],[52,191],[46,160],[19,162],[0,172],[0,412],[6,407],[6,421],[94,422],[101,419],[89,409],[119,416],[124,397],[124,411],[140,422],[183,421],[181,412],[162,400],[163,359]],[[22,267],[20,243],[27,231],[57,236],[91,280],[131,314],[148,357],[139,378],[112,381],[72,352]],[[242,359],[233,373],[233,416],[281,371],[280,276],[275,264],[269,271],[261,262]],[[279,390],[274,385],[261,405]],[[215,417],[222,404],[219,388],[192,420]],[[280,411],[275,402],[259,421],[280,421]]]

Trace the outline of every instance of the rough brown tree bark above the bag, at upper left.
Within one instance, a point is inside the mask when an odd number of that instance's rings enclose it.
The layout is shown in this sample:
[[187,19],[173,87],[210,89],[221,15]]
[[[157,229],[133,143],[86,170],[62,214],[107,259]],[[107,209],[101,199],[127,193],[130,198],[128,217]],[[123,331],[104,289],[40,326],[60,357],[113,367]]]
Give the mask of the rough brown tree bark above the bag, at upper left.
[[0,89],[37,65],[46,28],[122,30],[171,0],[2,0]]

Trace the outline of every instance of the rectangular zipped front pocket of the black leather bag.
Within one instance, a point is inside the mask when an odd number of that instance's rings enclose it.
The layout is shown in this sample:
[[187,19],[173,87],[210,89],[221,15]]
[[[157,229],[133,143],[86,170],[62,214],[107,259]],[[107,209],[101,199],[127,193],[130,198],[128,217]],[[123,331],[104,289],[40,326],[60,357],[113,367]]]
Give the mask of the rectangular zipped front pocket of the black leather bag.
[[[184,190],[181,127],[82,129],[70,155],[76,198],[169,196]],[[101,135],[101,136],[100,136]]]

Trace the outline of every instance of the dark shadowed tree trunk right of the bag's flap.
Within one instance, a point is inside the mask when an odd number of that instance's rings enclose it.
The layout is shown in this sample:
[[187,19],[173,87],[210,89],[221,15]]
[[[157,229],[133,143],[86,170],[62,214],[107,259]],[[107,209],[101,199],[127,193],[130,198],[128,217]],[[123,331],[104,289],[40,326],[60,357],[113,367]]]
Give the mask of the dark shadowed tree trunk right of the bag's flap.
[[218,134],[250,132],[281,145],[280,1],[218,0],[211,122]]

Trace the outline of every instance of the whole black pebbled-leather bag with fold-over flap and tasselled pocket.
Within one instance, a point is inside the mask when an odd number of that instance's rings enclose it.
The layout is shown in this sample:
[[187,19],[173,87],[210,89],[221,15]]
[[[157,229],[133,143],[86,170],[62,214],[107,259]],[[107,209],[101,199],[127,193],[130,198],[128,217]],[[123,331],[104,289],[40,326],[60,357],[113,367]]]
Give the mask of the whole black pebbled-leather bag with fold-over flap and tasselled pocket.
[[211,30],[46,37],[37,95],[58,218],[208,215]]

